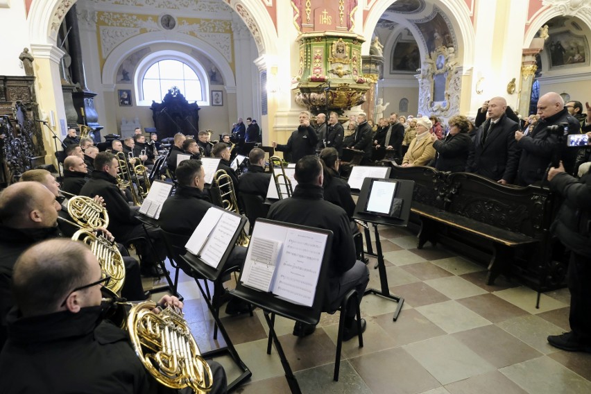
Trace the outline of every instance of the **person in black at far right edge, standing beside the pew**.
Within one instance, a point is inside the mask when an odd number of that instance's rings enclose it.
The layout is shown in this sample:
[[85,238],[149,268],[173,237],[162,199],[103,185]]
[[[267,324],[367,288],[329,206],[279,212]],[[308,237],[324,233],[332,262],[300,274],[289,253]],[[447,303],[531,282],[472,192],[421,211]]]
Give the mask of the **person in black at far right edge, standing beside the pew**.
[[591,173],[580,180],[565,172],[560,163],[551,168],[548,180],[563,196],[551,230],[570,250],[567,284],[570,291],[570,332],[548,336],[548,343],[568,352],[591,353]]

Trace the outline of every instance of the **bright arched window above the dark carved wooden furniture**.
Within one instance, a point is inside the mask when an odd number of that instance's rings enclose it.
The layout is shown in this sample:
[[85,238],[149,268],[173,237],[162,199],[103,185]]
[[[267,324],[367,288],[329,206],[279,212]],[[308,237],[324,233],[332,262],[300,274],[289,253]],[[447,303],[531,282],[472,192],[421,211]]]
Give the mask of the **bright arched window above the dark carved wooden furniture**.
[[146,70],[142,78],[142,99],[160,102],[173,86],[178,87],[187,101],[203,101],[201,81],[196,72],[175,59],[160,60]]

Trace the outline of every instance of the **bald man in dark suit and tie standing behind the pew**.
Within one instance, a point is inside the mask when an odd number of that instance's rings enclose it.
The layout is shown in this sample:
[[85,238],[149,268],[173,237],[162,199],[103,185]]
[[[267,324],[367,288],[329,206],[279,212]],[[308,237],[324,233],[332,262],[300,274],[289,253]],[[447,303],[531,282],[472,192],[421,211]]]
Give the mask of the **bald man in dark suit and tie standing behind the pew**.
[[517,122],[506,115],[507,101],[493,97],[488,101],[488,120],[481,124],[468,154],[466,171],[486,176],[506,185],[517,174],[519,148],[515,142]]

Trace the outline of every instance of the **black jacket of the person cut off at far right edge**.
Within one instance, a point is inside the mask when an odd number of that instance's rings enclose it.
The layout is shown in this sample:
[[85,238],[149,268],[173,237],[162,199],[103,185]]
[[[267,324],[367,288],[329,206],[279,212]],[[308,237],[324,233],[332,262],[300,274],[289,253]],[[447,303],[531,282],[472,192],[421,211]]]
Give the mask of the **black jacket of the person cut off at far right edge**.
[[558,173],[550,186],[564,197],[551,230],[577,255],[591,257],[591,173],[581,180]]

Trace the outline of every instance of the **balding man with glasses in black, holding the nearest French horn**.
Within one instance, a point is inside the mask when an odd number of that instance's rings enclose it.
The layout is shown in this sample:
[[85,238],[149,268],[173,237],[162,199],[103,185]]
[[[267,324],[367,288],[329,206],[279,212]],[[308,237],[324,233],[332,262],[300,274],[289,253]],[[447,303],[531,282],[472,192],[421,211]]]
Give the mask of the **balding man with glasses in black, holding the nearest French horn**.
[[[17,307],[8,316],[8,342],[0,354],[3,390],[170,392],[144,368],[129,334],[103,320],[101,287],[109,280],[103,278],[96,257],[80,242],[52,239],[19,257],[12,281]],[[164,295],[160,304],[183,306],[170,295]],[[214,377],[210,393],[225,393],[223,368],[214,362],[210,365]],[[27,366],[26,373],[22,366]]]

